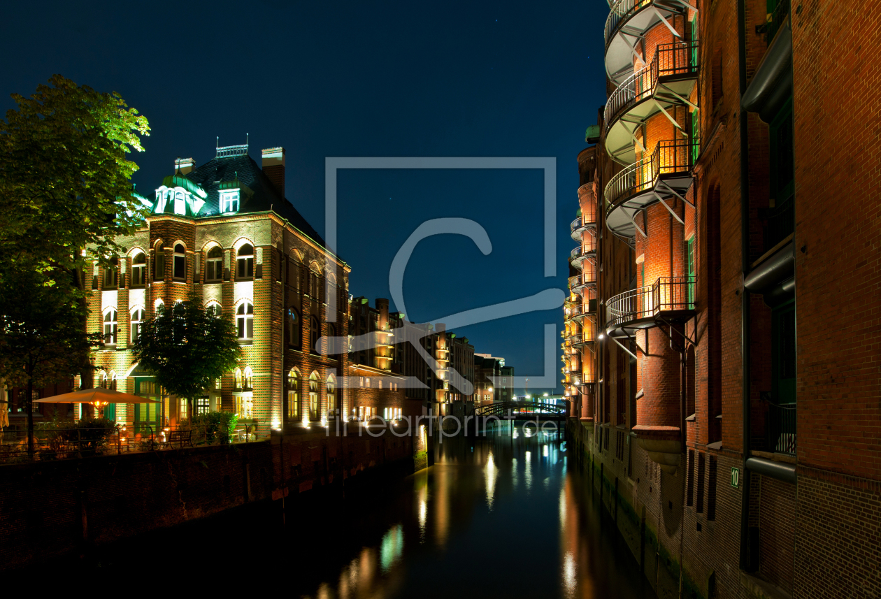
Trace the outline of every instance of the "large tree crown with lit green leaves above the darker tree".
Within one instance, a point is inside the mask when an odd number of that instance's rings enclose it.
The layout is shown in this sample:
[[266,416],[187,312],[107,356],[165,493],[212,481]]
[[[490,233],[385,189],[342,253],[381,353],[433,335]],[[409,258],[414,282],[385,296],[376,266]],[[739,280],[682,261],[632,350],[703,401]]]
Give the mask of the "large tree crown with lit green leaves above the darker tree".
[[126,154],[143,152],[138,135],[150,127],[116,92],[61,75],[49,84],[30,98],[13,93],[19,107],[0,121],[0,259],[35,264],[51,282],[106,261],[120,249],[115,237],[142,222]]

